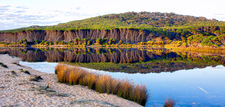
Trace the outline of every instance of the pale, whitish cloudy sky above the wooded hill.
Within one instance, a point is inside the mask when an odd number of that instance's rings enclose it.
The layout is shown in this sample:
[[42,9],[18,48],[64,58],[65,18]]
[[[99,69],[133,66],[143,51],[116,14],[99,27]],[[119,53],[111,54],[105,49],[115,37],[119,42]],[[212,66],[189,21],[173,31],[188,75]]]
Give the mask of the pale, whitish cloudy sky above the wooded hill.
[[0,30],[124,12],[173,12],[225,21],[225,0],[0,0]]

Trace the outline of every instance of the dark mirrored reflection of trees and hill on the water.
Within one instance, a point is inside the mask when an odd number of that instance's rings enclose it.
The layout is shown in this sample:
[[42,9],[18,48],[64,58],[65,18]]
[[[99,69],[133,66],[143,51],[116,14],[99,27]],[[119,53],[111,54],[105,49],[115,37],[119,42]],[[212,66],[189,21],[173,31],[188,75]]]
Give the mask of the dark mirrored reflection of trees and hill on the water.
[[173,72],[181,69],[225,65],[219,55],[169,52],[164,49],[1,49],[30,62],[72,62],[79,66],[111,72]]

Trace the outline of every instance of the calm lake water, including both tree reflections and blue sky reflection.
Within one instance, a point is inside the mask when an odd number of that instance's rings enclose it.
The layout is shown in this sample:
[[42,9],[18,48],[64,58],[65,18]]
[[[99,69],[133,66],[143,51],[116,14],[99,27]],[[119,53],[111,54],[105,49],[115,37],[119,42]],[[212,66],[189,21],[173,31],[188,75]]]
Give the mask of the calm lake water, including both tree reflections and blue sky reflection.
[[4,51],[42,72],[54,73],[57,62],[72,62],[91,72],[142,83],[150,93],[146,106],[162,106],[168,97],[177,101],[176,106],[225,106],[223,55],[163,49]]

